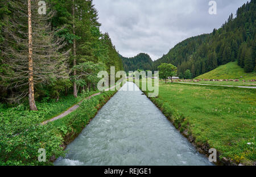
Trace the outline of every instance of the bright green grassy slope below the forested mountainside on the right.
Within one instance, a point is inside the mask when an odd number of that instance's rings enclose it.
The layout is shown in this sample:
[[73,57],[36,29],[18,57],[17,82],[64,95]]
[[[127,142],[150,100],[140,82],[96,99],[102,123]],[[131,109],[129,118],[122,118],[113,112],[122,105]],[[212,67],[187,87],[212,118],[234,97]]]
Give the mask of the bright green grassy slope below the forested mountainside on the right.
[[[242,76],[242,78],[241,78]],[[218,68],[202,74],[196,79],[256,79],[256,72],[245,73],[245,71],[237,65],[237,62],[229,62],[228,64],[221,65]]]

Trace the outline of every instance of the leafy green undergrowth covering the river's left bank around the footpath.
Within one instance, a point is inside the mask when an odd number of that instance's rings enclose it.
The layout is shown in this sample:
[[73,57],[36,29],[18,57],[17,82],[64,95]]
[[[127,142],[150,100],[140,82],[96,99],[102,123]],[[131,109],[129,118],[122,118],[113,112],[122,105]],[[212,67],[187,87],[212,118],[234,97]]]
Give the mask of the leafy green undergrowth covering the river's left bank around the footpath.
[[[20,105],[1,109],[0,113],[0,165],[52,165],[55,158],[64,156],[64,147],[69,144],[89,123],[116,91],[106,91],[84,100],[76,111],[41,125],[44,120],[65,111],[94,92],[84,92],[76,99],[72,96],[59,102],[50,99],[38,104],[38,111],[28,111]],[[38,150],[46,149],[46,162],[38,161]]]

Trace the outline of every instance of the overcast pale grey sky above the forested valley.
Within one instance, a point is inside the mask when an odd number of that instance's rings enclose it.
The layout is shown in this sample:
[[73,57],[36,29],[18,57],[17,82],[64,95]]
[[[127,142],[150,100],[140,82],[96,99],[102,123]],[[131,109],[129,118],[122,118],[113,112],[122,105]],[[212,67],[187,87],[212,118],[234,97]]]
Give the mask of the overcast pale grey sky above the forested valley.
[[247,0],[216,0],[217,14],[209,14],[210,0],[94,0],[101,31],[108,32],[120,54],[148,53],[152,60],[188,37],[220,28]]

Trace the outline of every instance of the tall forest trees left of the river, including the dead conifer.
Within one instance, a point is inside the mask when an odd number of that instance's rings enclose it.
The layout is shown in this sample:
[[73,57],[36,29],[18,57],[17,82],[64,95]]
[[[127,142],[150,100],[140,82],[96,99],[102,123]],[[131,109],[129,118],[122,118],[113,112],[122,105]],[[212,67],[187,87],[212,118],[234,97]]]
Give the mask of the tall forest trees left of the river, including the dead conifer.
[[36,110],[35,100],[96,89],[100,70],[123,70],[92,0],[46,0],[46,14],[38,3],[0,2],[0,102],[28,96]]

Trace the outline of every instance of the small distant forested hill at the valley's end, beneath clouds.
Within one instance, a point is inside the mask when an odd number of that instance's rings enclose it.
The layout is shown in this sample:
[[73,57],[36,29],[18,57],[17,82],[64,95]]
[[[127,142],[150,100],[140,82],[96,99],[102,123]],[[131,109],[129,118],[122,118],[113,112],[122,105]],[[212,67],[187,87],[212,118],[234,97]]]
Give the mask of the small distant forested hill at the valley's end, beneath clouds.
[[[121,56],[121,55],[120,55]],[[126,58],[121,56],[123,62],[123,69],[128,73],[129,71],[141,70],[152,70],[153,61],[150,56],[146,53],[139,53],[135,57]]]

